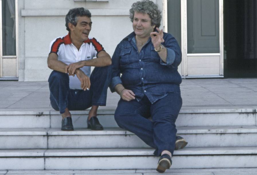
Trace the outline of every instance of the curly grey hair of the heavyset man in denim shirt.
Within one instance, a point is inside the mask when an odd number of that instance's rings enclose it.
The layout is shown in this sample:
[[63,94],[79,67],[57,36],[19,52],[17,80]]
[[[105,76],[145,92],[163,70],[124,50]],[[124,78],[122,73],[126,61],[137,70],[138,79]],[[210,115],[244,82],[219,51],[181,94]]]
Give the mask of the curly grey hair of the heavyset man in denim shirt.
[[134,13],[146,13],[151,18],[151,25],[156,25],[160,27],[161,25],[161,11],[158,9],[158,5],[149,0],[137,1],[132,4],[130,9],[130,21],[133,22]]

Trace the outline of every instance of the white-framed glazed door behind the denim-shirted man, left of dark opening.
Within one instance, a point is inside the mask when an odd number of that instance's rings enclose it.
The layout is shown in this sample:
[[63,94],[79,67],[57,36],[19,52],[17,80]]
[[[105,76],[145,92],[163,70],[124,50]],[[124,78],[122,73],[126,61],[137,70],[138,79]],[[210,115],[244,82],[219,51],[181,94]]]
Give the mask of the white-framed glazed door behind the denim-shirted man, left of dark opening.
[[223,77],[223,0],[168,0],[166,32],[182,50],[185,78]]

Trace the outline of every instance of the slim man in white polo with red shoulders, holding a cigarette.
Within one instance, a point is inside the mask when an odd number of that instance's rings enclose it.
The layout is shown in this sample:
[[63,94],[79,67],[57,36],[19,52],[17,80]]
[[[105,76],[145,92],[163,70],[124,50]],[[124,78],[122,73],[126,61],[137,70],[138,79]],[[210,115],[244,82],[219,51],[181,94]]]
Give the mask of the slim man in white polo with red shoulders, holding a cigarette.
[[[53,69],[48,79],[51,106],[62,114],[63,131],[74,130],[70,110],[89,107],[92,108],[87,128],[103,130],[97,109],[106,105],[111,57],[95,38],[89,38],[92,27],[89,10],[70,9],[65,21],[69,33],[50,43],[47,59],[48,67]],[[91,66],[95,66],[92,73]]]

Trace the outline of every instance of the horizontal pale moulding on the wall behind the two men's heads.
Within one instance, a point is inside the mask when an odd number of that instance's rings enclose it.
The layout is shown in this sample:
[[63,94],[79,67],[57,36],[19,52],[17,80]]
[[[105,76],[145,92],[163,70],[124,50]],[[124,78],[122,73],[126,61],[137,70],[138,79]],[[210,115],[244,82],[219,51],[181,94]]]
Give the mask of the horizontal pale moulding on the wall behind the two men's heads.
[[[69,9],[21,9],[21,16],[66,16]],[[128,16],[129,9],[89,9],[92,16]]]

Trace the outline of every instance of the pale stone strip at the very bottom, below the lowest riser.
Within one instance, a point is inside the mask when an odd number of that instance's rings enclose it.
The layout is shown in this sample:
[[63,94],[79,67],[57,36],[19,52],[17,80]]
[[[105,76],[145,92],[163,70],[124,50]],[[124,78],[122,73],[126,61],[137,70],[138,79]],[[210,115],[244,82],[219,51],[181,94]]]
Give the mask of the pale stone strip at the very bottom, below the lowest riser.
[[[142,167],[144,168],[144,167]],[[169,169],[170,175],[256,175],[257,168],[201,168],[201,169]],[[130,170],[0,170],[0,174],[8,175],[158,175],[154,169]]]

